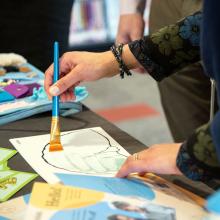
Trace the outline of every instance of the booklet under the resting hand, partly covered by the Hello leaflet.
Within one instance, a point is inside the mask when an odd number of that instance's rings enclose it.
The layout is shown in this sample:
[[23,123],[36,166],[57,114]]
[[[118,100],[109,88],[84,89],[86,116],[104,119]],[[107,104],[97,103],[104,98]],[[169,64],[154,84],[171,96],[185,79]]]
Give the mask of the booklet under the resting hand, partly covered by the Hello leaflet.
[[173,208],[176,212],[176,219],[197,220],[206,214],[203,208],[194,200],[194,198],[197,198],[196,195],[188,192],[189,197],[184,189],[180,189],[171,182],[151,173],[146,174],[144,177],[132,175],[129,179],[68,174],[56,175],[65,185],[121,196],[138,197],[157,205]]

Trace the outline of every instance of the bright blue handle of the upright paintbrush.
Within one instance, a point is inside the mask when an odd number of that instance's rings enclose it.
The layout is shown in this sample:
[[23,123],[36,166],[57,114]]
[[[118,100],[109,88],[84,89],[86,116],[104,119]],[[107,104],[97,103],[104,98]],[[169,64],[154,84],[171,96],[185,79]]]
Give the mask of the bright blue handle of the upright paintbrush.
[[[59,79],[59,44],[54,42],[54,73],[53,73],[53,83],[56,83]],[[59,96],[53,96],[53,109],[52,116],[59,116]]]

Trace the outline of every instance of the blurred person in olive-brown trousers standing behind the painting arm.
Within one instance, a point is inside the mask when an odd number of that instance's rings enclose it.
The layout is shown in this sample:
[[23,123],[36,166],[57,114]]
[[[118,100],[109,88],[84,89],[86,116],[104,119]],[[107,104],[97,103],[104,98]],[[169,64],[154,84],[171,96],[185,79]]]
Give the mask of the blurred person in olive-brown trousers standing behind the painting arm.
[[[140,39],[145,28],[143,14],[150,4],[147,4],[147,0],[121,0],[120,3],[121,16],[116,43]],[[152,0],[149,8],[149,31],[153,33],[163,26],[175,23],[201,10],[201,7],[202,0]],[[195,20],[189,19],[184,28],[187,30],[194,25]],[[168,37],[167,42],[169,41]],[[164,53],[169,53],[169,46],[162,46]],[[187,58],[180,54],[179,59]],[[161,103],[175,142],[182,142],[195,128],[209,121],[211,84],[203,72],[203,67],[198,62],[158,83]],[[217,103],[215,108],[217,109]]]

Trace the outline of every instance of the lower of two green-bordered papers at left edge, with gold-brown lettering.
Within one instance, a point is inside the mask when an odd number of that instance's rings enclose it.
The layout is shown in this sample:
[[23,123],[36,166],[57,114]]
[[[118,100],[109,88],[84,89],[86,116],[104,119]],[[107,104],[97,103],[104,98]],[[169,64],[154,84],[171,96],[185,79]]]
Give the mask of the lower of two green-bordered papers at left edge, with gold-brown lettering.
[[27,172],[19,172],[19,171],[13,171],[13,172],[14,175],[11,175],[4,180],[7,182],[4,181],[0,182],[0,202],[4,202],[8,200],[22,187],[27,185],[29,182],[31,182],[34,178],[38,176],[37,174],[27,173]]

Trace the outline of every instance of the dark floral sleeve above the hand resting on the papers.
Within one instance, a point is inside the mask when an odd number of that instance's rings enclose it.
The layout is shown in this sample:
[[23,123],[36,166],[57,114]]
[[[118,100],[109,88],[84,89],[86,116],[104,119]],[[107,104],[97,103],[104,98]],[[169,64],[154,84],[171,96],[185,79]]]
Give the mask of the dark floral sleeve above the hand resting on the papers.
[[220,162],[212,142],[210,124],[201,126],[185,141],[177,156],[180,171],[192,180],[220,179]]

